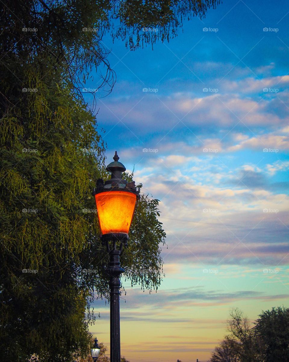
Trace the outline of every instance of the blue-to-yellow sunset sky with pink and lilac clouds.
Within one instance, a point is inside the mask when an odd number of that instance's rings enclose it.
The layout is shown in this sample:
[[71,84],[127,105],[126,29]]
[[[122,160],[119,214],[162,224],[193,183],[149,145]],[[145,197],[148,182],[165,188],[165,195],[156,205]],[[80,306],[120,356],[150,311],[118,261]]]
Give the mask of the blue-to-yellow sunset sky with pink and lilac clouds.
[[[230,308],[253,321],[289,306],[288,24],[288,1],[224,0],[153,50],[103,40],[117,76],[96,93],[107,163],[117,150],[134,168],[167,233],[159,290],[124,282],[131,362],[207,361]],[[109,305],[94,307],[109,347]]]

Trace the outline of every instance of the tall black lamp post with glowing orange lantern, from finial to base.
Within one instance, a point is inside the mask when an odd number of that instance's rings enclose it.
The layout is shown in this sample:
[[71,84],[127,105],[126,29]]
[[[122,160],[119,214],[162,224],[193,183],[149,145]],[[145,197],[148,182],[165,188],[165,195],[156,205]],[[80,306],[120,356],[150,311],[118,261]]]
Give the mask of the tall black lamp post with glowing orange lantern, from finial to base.
[[128,183],[122,180],[122,172],[126,168],[118,162],[116,151],[113,160],[106,168],[111,172],[111,179],[105,182],[99,179],[92,194],[95,196],[100,238],[106,244],[110,260],[106,269],[110,277],[110,360],[120,362],[120,275],[125,271],[120,266],[120,254],[123,246],[128,245],[139,189],[134,181]]

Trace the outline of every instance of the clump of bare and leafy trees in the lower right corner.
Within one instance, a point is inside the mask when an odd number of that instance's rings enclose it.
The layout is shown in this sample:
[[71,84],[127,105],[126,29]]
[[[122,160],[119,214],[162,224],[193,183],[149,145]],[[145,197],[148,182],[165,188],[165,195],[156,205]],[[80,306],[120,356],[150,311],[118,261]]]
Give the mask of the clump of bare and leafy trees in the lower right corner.
[[289,308],[263,311],[254,325],[236,308],[230,313],[228,331],[210,362],[289,361]]

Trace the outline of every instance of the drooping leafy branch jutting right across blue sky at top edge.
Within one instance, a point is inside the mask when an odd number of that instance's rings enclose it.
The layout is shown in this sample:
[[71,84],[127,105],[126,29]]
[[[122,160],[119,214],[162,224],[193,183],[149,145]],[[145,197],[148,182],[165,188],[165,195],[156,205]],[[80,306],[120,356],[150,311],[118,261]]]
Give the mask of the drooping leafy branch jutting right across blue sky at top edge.
[[[111,9],[111,36],[121,38],[131,50],[156,41],[169,41],[177,36],[184,19],[194,16],[200,19],[207,10],[215,8],[220,0],[121,0]],[[147,30],[148,29],[148,30]]]

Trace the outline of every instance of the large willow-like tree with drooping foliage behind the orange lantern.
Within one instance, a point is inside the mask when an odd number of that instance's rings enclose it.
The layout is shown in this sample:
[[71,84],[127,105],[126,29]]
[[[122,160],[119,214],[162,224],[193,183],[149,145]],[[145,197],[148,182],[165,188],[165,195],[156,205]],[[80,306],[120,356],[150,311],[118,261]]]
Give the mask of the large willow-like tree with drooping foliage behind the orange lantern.
[[[49,362],[85,356],[91,343],[88,324],[94,321],[90,303],[109,297],[106,252],[90,212],[95,181],[108,177],[105,145],[95,111],[80,92],[93,68],[102,74],[99,87],[113,87],[115,74],[102,37],[121,38],[131,50],[165,41],[176,35],[183,17],[203,16],[215,5],[213,0],[14,0],[4,5],[0,355],[5,361],[25,361],[34,353]],[[142,31],[151,26],[161,31]],[[161,282],[159,245],[165,232],[157,216],[158,200],[142,194],[122,255],[131,284],[148,290]]]

